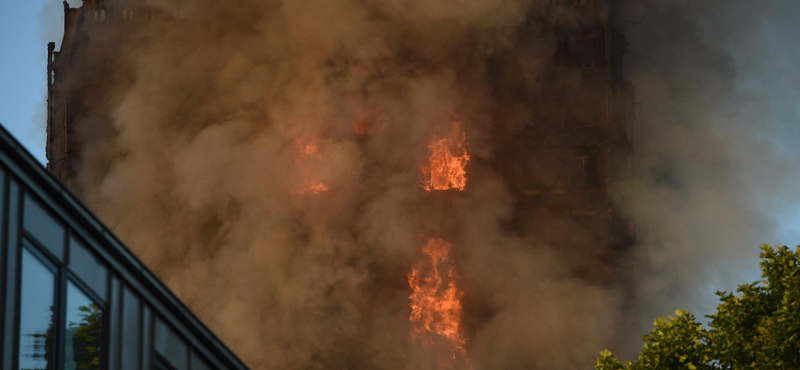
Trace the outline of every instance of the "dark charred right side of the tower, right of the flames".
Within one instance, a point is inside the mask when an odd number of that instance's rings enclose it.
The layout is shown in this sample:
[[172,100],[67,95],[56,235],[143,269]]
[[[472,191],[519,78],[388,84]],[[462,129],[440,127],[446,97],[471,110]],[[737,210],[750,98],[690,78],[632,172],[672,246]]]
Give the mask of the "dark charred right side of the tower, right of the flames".
[[525,78],[520,71],[519,85],[501,90],[498,125],[515,107],[528,107],[534,124],[508,140],[498,166],[517,186],[519,226],[581,261],[577,275],[610,282],[635,237],[623,211],[633,180],[633,86],[622,73],[627,43],[618,2],[569,3],[587,18],[608,17],[577,30],[553,27],[545,72]]

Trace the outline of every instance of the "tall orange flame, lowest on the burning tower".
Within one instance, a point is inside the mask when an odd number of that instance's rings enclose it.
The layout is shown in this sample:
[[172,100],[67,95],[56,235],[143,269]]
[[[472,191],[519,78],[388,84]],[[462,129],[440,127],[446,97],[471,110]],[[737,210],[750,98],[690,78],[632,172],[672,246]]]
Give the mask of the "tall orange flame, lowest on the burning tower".
[[428,259],[408,274],[412,293],[411,334],[414,340],[432,343],[436,336],[450,345],[450,359],[466,361],[466,338],[461,324],[461,298],[464,292],[456,286],[456,274],[448,254],[453,244],[431,238],[422,249]]

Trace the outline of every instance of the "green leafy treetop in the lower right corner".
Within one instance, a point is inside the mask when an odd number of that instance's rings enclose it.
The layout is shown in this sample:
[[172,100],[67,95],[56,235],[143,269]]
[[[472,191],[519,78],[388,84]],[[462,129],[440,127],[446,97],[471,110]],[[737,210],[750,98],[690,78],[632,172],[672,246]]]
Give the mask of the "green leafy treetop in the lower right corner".
[[717,292],[708,329],[686,311],[659,318],[636,361],[605,350],[597,370],[800,369],[800,247],[761,246],[763,279]]

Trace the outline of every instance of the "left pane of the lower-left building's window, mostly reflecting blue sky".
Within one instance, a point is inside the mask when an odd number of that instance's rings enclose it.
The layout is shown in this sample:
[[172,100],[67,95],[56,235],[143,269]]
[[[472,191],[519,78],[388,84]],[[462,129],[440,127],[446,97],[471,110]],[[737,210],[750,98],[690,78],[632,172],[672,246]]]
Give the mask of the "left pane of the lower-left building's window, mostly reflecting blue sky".
[[22,251],[22,297],[19,314],[20,369],[51,369],[55,274],[30,251]]

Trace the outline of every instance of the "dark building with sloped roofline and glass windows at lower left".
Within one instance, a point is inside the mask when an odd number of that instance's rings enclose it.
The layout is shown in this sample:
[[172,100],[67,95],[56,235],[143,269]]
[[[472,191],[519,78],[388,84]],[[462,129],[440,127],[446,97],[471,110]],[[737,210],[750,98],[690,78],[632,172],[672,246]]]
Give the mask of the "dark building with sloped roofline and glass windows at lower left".
[[0,370],[246,369],[0,127]]

